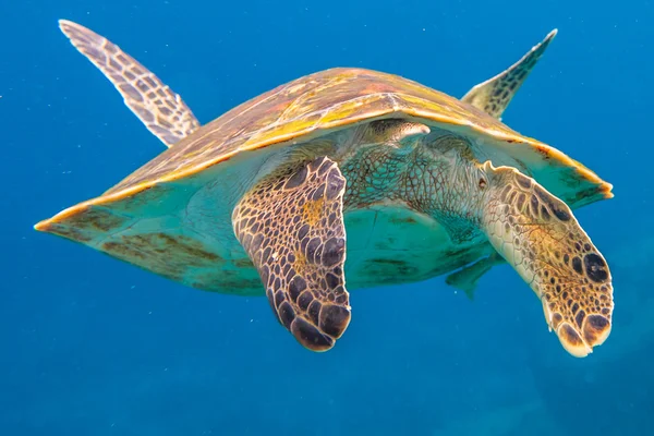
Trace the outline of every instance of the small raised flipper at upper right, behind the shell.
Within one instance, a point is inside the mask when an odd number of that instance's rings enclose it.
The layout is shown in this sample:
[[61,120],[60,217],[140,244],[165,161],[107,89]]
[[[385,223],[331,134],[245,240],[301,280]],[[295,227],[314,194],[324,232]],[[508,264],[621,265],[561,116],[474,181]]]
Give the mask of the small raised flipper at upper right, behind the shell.
[[495,77],[474,86],[461,100],[499,119],[509,102],[511,102],[516,92],[522,86],[529,73],[556,36],[556,33],[557,29],[552,31],[543,41],[533,47],[522,59]]

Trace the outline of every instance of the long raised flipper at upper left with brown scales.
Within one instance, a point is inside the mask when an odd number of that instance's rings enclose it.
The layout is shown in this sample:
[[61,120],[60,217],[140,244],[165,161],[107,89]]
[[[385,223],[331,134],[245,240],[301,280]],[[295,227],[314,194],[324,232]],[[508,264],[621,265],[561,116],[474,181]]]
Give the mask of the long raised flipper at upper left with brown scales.
[[59,27],[72,45],[105,73],[125,105],[166,146],[172,146],[199,128],[182,98],[117,45],[66,20],[60,20]]

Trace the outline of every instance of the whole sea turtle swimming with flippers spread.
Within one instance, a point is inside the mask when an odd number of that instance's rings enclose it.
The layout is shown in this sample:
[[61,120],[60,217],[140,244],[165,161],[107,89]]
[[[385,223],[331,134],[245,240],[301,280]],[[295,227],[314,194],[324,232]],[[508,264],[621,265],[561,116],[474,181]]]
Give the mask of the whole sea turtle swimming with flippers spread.
[[60,27],[169,148],[37,230],[193,288],[266,294],[314,351],[350,323],[346,278],[354,289],[450,274],[472,292],[501,262],[536,293],[569,353],[585,356],[608,337],[610,272],[572,209],[613,197],[613,186],[499,120],[556,31],[462,99],[335,68],[201,126],[119,47]]

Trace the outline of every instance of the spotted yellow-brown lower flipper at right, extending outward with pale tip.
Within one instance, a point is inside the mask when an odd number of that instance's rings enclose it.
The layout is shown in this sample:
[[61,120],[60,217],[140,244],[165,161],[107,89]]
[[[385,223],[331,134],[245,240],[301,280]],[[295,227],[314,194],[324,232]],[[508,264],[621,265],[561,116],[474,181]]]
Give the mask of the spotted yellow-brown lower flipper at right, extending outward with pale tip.
[[606,261],[572,210],[514,168],[483,166],[483,227],[493,246],[543,303],[545,318],[572,355],[583,358],[611,328]]

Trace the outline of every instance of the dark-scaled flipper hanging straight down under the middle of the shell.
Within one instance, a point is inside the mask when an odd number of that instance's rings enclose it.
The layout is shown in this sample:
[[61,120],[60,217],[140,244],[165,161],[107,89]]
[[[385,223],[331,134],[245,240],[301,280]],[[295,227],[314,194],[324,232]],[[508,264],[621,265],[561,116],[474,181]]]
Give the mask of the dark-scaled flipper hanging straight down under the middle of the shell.
[[313,351],[334,347],[350,323],[344,190],[338,165],[319,157],[264,178],[232,215],[277,319]]

